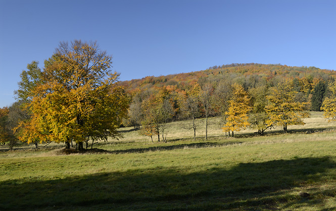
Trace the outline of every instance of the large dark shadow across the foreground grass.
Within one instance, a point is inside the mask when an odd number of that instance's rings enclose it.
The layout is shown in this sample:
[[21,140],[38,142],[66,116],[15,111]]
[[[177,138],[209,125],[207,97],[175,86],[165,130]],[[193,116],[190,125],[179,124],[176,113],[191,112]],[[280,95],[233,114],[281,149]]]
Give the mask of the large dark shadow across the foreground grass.
[[7,180],[0,182],[0,210],[271,210],[312,200],[286,190],[326,182],[335,165],[320,157],[242,163],[232,169],[157,167],[46,181]]

